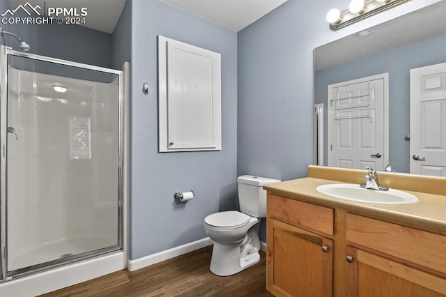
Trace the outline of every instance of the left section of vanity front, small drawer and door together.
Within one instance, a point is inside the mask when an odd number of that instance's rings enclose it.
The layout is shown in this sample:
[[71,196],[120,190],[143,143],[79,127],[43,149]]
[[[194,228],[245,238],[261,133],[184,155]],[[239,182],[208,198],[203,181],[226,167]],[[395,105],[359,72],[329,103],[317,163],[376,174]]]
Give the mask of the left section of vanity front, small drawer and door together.
[[266,288],[275,296],[332,296],[333,210],[268,195]]

